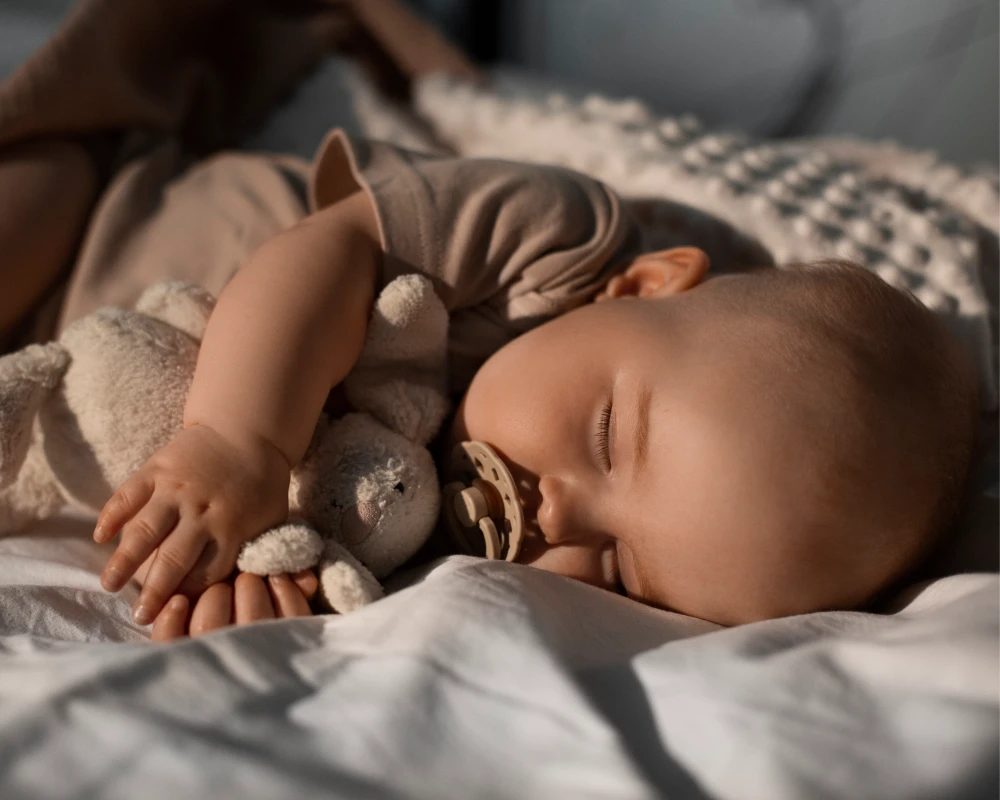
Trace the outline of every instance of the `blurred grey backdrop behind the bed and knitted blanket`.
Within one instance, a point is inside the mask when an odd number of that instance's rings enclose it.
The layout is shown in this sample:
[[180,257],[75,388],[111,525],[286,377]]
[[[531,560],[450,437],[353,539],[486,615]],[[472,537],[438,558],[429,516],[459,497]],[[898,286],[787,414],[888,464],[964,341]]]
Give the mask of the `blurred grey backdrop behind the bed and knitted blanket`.
[[[762,136],[998,161],[997,0],[407,0],[480,62]],[[71,0],[0,0],[0,75]]]

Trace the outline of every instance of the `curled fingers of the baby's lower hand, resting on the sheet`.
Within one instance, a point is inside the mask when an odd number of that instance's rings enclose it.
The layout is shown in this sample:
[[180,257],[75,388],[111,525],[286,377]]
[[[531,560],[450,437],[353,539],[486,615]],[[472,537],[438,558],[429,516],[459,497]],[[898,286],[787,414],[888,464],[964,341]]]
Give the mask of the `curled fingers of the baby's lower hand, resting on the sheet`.
[[227,625],[246,625],[261,619],[304,617],[312,613],[309,598],[319,582],[312,570],[295,575],[241,573],[236,580],[209,586],[197,601],[174,595],[153,623],[154,642],[182,636],[201,636]]

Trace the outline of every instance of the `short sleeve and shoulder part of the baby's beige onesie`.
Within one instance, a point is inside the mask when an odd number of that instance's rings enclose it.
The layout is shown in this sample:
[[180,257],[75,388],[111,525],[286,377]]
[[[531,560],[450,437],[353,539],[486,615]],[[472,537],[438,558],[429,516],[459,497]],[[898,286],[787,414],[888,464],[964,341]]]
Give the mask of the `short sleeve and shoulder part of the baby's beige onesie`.
[[312,209],[359,187],[378,217],[380,284],[431,279],[462,372],[585,303],[639,250],[620,198],[569,169],[416,153],[334,130],[313,163]]

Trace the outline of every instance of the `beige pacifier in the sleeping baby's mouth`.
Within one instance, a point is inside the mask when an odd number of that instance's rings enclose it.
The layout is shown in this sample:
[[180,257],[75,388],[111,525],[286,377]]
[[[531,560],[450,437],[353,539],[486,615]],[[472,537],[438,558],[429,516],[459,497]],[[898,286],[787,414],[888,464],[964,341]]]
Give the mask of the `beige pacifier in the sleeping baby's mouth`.
[[451,451],[442,490],[444,521],[459,551],[513,561],[524,534],[514,478],[485,442],[460,442]]

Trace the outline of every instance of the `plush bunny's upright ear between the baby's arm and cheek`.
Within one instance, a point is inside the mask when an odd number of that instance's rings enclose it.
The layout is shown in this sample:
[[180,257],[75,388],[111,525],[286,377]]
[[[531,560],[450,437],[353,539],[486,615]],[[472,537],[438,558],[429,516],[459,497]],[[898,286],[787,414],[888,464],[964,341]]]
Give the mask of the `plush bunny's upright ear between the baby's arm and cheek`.
[[403,275],[379,295],[364,349],[344,381],[347,399],[417,444],[448,412],[448,312],[422,275]]

